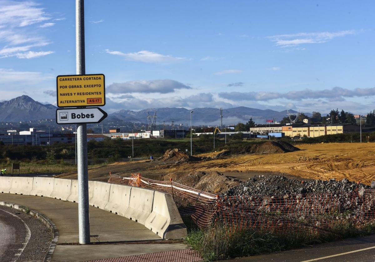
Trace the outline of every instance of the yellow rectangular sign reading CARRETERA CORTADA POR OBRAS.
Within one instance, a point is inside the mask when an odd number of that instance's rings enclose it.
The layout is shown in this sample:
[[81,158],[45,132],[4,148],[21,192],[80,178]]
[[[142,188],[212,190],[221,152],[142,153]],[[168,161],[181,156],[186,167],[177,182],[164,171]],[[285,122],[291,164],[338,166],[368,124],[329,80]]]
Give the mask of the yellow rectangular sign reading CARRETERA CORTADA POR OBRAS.
[[57,107],[104,106],[104,74],[57,76]]

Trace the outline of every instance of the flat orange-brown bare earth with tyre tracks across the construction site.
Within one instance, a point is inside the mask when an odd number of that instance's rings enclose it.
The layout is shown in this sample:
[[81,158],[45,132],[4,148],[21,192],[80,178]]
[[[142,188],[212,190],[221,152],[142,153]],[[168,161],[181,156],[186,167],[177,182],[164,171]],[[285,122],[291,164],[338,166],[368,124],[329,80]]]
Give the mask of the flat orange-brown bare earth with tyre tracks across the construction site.
[[[214,158],[220,153],[214,152],[197,155],[203,158],[202,161],[180,164],[159,161],[116,163],[89,170],[89,179],[105,181],[112,172],[123,176],[141,173],[143,176],[164,180],[166,175],[181,177],[204,171],[237,177],[240,180],[247,180],[259,174],[281,174],[300,179],[321,180],[346,178],[366,185],[375,180],[374,143],[301,144],[297,147],[301,150],[267,155],[231,155],[226,158]],[[77,174],[71,172],[60,177],[77,178]]]

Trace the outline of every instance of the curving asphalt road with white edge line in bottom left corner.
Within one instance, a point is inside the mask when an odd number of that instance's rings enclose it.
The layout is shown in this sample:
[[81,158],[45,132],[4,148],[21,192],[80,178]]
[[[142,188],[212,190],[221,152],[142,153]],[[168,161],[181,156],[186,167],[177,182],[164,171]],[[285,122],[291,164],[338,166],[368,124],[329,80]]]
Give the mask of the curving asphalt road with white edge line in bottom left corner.
[[0,262],[43,261],[51,232],[30,214],[0,206]]

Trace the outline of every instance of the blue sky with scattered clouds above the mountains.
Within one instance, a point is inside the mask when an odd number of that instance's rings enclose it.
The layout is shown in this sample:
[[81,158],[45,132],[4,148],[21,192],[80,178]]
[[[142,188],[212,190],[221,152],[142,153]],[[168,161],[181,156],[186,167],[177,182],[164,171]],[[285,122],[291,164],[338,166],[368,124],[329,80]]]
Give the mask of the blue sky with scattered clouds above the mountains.
[[[375,108],[374,1],[86,0],[86,73],[108,112]],[[75,73],[75,1],[0,0],[0,101],[56,104]]]

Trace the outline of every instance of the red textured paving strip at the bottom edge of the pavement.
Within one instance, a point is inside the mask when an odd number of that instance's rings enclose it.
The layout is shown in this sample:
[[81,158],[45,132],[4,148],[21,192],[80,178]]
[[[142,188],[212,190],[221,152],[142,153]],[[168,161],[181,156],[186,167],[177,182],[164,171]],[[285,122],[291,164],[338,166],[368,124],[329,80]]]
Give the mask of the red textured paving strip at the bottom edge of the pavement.
[[157,252],[120,258],[106,258],[86,262],[199,262],[202,258],[191,249]]

